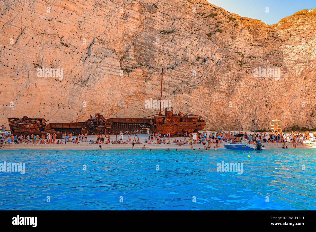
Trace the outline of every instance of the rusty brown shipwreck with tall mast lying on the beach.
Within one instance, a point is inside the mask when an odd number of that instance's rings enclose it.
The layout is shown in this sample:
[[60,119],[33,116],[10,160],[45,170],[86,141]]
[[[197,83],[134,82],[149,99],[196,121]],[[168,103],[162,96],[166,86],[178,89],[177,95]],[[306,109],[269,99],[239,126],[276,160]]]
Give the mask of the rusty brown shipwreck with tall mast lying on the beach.
[[[163,68],[161,71],[162,97]],[[160,101],[161,103],[161,101]],[[153,117],[153,118],[149,118]],[[205,127],[205,120],[197,115],[185,115],[181,112],[173,114],[173,108],[167,107],[165,115],[159,114],[143,118],[108,118],[104,119],[100,114],[91,114],[85,122],[70,123],[46,123],[44,118],[8,118],[9,126],[13,134],[56,134],[62,138],[64,134],[149,134],[170,133],[171,137],[181,137],[186,133],[197,133]]]

